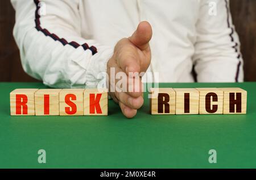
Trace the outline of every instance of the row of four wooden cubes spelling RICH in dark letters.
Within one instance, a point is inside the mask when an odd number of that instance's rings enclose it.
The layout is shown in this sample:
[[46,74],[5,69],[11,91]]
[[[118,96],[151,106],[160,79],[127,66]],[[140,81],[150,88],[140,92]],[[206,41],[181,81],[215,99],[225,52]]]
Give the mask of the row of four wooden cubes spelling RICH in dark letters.
[[152,115],[246,114],[247,91],[241,88],[152,88]]

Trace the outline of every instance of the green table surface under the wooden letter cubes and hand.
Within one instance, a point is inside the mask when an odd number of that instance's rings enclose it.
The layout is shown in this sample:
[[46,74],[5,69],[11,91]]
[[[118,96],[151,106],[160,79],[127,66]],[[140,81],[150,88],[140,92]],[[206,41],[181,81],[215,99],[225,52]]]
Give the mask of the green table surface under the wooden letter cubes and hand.
[[[241,87],[246,115],[150,115],[133,119],[113,101],[109,116],[10,116],[9,93],[42,83],[0,83],[0,168],[256,168],[256,83],[163,83]],[[46,164],[38,150],[46,150]],[[208,161],[217,151],[217,164]]]

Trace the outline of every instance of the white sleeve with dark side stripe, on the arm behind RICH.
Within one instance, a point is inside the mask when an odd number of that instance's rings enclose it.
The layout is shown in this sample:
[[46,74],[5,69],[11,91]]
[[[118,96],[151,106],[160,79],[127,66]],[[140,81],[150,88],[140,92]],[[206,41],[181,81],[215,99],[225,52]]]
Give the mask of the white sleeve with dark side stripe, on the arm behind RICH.
[[243,60],[229,1],[201,1],[196,30],[193,63],[197,81],[242,82]]

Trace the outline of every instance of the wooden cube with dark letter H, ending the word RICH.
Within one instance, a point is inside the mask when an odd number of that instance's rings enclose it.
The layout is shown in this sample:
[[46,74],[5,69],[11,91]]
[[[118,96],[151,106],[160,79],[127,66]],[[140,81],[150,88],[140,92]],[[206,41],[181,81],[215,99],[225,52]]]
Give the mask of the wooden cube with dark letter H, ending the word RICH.
[[246,114],[247,91],[238,87],[220,88],[224,91],[223,114]]

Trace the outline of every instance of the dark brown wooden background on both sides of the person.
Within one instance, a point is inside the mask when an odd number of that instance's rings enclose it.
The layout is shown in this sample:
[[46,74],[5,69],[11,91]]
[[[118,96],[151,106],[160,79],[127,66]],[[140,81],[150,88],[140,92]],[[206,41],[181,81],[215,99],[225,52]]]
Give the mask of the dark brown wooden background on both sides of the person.
[[[256,0],[230,0],[245,61],[245,81],[256,81]],[[15,12],[10,0],[0,0],[0,82],[36,81],[24,73],[13,38]]]

